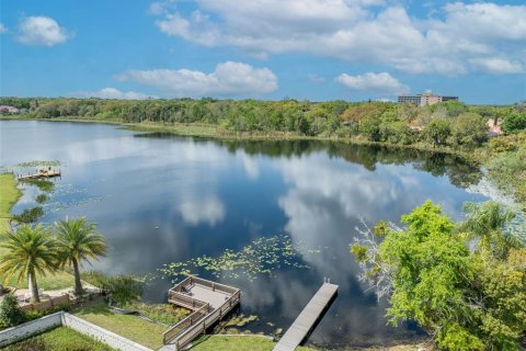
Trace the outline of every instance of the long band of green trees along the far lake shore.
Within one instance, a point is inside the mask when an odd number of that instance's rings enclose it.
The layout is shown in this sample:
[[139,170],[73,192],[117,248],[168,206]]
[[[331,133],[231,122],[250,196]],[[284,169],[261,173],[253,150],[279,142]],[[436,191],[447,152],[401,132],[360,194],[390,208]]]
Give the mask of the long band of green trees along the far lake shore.
[[123,123],[206,123],[232,133],[294,133],[368,141],[470,150],[488,140],[488,121],[510,134],[526,128],[526,107],[472,106],[447,101],[431,106],[388,102],[297,100],[103,100],[0,98],[35,118],[80,117]]

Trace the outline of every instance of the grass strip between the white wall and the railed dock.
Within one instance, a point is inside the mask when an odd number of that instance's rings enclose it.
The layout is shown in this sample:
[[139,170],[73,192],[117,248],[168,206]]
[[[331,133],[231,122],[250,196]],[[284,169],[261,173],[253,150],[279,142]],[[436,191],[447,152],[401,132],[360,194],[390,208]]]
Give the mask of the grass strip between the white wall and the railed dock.
[[167,329],[165,327],[149,322],[137,316],[116,314],[102,299],[80,307],[72,313],[77,317],[147,348],[157,350],[162,347],[162,332]]

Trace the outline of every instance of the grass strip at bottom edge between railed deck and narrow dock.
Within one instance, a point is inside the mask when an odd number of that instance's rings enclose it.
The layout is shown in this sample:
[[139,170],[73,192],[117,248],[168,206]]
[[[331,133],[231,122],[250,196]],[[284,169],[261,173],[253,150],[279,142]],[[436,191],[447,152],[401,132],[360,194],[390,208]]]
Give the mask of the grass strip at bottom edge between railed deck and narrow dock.
[[[194,341],[192,351],[272,351],[276,342],[267,338],[247,336],[206,336]],[[299,347],[298,351],[315,351],[311,348]]]

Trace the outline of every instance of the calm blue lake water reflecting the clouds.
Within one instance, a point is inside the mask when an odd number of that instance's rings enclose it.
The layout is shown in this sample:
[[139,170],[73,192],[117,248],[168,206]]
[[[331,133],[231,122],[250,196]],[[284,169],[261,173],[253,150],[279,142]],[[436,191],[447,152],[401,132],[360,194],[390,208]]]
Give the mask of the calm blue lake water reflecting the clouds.
[[[477,168],[418,151],[316,141],[227,143],[57,122],[0,121],[0,135],[3,167],[61,162],[62,178],[42,222],[87,216],[98,223],[110,253],[92,269],[146,274],[276,234],[316,249],[301,257],[309,269],[283,267],[273,276],[225,282],[241,288],[241,313],[259,316],[247,329],[272,332],[287,328],[330,278],[340,285],[339,296],[309,342],[336,348],[419,333],[414,326],[387,327],[385,302],[357,280],[348,246],[359,218],[398,222],[428,199],[459,218],[464,202],[487,200],[466,191],[481,178]],[[33,206],[37,194],[27,186],[14,212]],[[156,281],[145,297],[163,301],[169,285]]]

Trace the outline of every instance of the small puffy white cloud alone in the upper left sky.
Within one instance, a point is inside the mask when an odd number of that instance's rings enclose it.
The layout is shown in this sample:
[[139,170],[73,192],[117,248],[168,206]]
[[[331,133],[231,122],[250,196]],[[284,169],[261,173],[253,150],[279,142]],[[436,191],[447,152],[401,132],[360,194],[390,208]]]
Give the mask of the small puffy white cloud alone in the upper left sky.
[[22,44],[54,46],[71,37],[57,21],[47,16],[27,16],[19,24],[18,39]]

